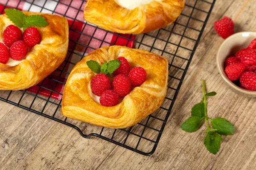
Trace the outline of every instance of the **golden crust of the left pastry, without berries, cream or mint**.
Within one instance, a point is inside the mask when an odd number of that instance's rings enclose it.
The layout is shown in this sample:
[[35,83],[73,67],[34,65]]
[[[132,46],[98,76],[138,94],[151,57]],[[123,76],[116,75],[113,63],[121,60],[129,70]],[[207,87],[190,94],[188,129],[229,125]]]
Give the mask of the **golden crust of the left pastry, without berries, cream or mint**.
[[[38,28],[41,42],[30,48],[23,62],[16,66],[0,63],[0,90],[22,90],[38,84],[61,65],[67,54],[67,19],[52,14],[23,13],[41,15],[49,25]],[[4,29],[12,24],[5,14],[0,15],[0,42],[3,42]]]

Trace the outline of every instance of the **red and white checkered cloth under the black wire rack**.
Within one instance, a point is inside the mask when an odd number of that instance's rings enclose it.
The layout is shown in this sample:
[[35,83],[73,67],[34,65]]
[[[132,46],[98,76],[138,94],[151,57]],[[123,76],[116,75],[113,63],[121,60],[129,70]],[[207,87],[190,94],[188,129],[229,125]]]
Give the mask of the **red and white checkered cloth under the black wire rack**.
[[[7,1],[8,0],[0,1],[0,11],[3,11],[5,8],[1,3],[6,4]],[[134,42],[131,40],[135,39],[135,35],[122,34],[123,37],[131,39],[128,40],[85,23],[83,9],[86,2],[82,0],[58,0],[58,2],[54,0],[34,0],[34,5],[29,3],[31,1],[32,0],[27,0],[27,2],[21,0],[9,0],[6,5],[23,11],[41,11],[43,13],[64,15],[70,26],[69,51],[73,52],[67,53],[65,59],[68,61],[67,63],[62,63],[54,73],[49,75],[49,77],[44,79],[38,85],[28,88],[27,91],[29,92],[38,93],[47,97],[50,96],[53,99],[60,100],[62,98],[64,83],[67,81],[68,77],[68,74],[65,74],[65,72],[70,72],[74,67],[72,63],[79,62],[81,56],[89,54],[94,49],[110,46],[109,43],[115,45],[127,45],[130,48],[134,45]],[[47,2],[45,3],[45,1]],[[64,71],[64,73],[61,71]],[[52,91],[55,91],[56,93]]]

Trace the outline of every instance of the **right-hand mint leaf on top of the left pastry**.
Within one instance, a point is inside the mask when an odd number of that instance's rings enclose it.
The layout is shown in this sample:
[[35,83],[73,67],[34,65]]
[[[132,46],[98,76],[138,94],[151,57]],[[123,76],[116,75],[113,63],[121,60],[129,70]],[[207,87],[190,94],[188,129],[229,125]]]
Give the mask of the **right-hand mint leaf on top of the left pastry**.
[[47,21],[41,15],[30,15],[25,18],[23,28],[48,26]]

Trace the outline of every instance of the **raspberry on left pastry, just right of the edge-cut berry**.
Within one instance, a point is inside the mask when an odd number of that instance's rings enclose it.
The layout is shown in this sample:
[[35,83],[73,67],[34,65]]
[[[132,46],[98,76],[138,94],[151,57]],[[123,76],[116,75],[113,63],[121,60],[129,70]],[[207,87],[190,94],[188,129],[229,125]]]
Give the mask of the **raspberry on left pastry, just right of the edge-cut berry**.
[[10,56],[14,60],[23,59],[28,52],[28,46],[23,41],[16,41],[10,47]]

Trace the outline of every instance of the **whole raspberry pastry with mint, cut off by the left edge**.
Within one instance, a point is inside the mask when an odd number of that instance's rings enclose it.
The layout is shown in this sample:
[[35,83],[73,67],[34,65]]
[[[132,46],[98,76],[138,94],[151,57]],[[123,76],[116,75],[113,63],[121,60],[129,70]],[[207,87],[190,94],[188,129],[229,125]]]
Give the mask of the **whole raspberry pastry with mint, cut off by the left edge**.
[[[38,84],[61,65],[69,28],[64,17],[7,10],[0,15],[0,90],[22,90]],[[18,22],[22,17],[23,22]]]

